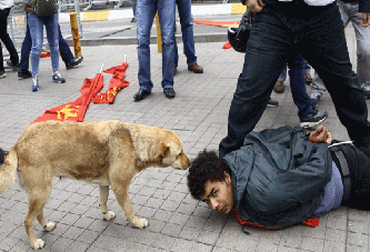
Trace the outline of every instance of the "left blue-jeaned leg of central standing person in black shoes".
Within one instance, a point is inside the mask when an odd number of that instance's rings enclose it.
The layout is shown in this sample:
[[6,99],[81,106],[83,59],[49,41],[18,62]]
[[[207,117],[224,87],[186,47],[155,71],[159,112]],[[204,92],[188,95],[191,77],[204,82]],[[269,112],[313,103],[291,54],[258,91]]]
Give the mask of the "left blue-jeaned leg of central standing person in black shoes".
[[[138,59],[139,59],[139,84],[140,89],[151,92],[153,83],[150,78],[150,29],[156,14],[154,2],[138,0],[137,7],[137,34],[138,34]],[[173,68],[172,68],[173,70]]]

